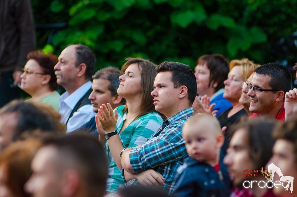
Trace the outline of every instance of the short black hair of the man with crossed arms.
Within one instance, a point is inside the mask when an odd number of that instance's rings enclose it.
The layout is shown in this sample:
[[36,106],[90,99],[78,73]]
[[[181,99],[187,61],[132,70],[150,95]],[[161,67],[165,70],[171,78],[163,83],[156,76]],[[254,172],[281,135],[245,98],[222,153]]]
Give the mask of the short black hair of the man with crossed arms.
[[162,62],[157,66],[156,70],[157,73],[172,72],[171,81],[174,88],[185,85],[188,89],[188,100],[191,105],[193,104],[197,93],[197,84],[194,72],[188,65],[179,62]]

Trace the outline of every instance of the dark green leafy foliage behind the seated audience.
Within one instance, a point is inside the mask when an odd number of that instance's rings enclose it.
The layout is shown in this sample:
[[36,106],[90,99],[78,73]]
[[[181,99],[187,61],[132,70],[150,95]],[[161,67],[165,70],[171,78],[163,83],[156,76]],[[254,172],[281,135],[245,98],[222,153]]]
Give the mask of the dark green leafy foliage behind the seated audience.
[[[59,55],[68,44],[91,47],[97,69],[126,57],[191,68],[203,54],[256,63],[296,62],[296,0],[32,0],[35,24],[67,22],[50,39]],[[36,29],[44,48],[51,29]],[[51,46],[46,46],[47,48]]]

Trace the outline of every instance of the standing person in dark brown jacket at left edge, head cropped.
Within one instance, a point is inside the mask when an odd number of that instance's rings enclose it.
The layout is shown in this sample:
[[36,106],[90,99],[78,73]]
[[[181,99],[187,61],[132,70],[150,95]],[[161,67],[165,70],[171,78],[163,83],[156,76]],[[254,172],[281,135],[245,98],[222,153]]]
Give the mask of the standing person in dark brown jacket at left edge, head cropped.
[[20,97],[27,54],[35,49],[33,15],[29,0],[0,1],[0,107]]

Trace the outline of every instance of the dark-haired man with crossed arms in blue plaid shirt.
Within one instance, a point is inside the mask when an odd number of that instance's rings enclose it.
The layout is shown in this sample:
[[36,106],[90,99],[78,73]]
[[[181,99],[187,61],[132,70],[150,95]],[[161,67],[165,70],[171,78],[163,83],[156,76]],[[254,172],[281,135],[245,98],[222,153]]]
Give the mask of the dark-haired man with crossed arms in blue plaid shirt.
[[156,69],[158,74],[151,94],[156,111],[167,120],[141,147],[123,149],[122,175],[126,181],[137,179],[143,185],[162,186],[171,194],[176,170],[188,156],[182,129],[193,116],[197,86],[188,65],[163,62]]

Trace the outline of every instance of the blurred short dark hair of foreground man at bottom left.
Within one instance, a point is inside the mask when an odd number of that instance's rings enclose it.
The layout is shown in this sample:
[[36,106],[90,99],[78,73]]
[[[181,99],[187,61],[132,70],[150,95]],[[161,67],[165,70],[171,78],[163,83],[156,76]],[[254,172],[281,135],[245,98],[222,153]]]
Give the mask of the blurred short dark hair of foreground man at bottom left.
[[[75,166],[84,185],[88,187],[88,196],[104,195],[108,164],[104,148],[98,139],[87,134],[69,134],[44,138],[44,146],[57,148],[58,158],[63,158],[61,162],[64,169]],[[69,163],[71,166],[67,166]]]

